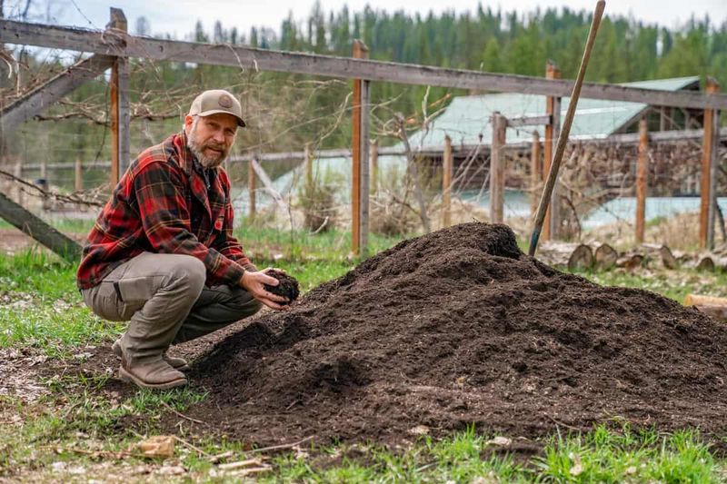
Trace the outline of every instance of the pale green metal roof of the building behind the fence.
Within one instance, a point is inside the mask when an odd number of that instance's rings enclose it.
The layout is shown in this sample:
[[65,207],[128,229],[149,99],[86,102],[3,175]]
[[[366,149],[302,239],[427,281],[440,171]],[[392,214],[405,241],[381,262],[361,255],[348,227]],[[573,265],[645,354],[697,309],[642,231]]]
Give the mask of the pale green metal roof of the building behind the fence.
[[[678,91],[699,82],[699,77],[678,77],[624,83],[632,87]],[[563,97],[561,120],[568,110],[570,97]],[[625,123],[646,109],[647,104],[603,101],[581,98],[573,118],[571,139],[605,138],[617,132]],[[545,96],[536,94],[481,94],[457,96],[430,126],[427,133],[417,132],[410,136],[412,147],[441,146],[444,135],[452,138],[453,144],[490,145],[492,143],[492,123],[490,116],[499,111],[508,118],[543,116]],[[524,126],[508,128],[507,143],[532,140],[533,129],[543,135],[543,126]],[[414,148],[415,149],[415,148]]]

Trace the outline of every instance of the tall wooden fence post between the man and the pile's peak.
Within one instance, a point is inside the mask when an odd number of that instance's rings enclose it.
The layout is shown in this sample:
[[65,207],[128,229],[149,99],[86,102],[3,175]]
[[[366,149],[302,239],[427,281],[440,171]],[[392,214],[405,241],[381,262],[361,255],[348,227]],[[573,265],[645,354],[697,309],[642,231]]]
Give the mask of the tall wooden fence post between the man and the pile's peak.
[[[366,59],[368,58],[368,48],[360,40],[354,40],[354,59]],[[354,79],[354,105],[352,120],[354,123],[353,135],[352,135],[352,186],[351,186],[351,252],[354,255],[361,255],[362,253],[362,228],[364,222],[362,221],[362,212],[365,212],[366,222],[368,223],[368,180],[364,181],[364,173],[362,167],[365,163],[364,158],[368,158],[368,149],[362,149],[363,146],[368,148],[368,83],[361,79]],[[365,144],[364,144],[365,142]],[[366,175],[368,175],[368,166],[364,168]],[[362,210],[362,201],[364,198],[364,185],[366,186],[366,207]],[[368,230],[365,230],[364,239],[368,242]]]

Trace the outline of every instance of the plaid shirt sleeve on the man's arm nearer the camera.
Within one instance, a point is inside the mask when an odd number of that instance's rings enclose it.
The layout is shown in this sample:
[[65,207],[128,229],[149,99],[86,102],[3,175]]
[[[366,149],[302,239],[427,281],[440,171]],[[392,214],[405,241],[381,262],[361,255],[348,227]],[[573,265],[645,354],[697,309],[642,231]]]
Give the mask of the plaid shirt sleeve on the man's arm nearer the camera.
[[214,279],[240,283],[243,265],[206,247],[191,231],[184,182],[172,163],[148,163],[134,178],[134,193],[146,239],[156,252],[191,255]]

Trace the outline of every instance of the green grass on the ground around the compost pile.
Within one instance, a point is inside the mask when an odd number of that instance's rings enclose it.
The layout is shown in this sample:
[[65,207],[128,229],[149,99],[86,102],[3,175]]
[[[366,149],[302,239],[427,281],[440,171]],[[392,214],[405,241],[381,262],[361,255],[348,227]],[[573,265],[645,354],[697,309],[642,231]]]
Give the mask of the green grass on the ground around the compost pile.
[[[304,291],[352,269],[348,234],[290,234],[264,230],[239,233],[245,247],[259,254],[261,268],[274,265],[294,274]],[[392,238],[372,240],[377,249]],[[291,260],[294,254],[298,260]],[[282,255],[282,257],[280,257]],[[582,273],[606,285],[639,287],[681,301],[692,291],[727,295],[727,276],[692,271]],[[89,345],[109,344],[122,324],[96,318],[75,289],[75,264],[41,251],[0,255],[0,348],[34,349],[55,359],[83,358]],[[173,408],[184,412],[204,400],[194,386],[163,392],[139,390],[126,396],[102,391],[110,374],[59,374],[42,380],[47,393],[32,403],[0,396],[0,479],[62,481],[76,479],[54,470],[58,462],[85,469],[82,480],[131,479],[134,466],[156,472],[161,459],[123,460],[113,452],[131,449],[158,433],[156,422]],[[207,454],[232,452],[228,461],[249,457],[244,442],[222,437],[177,434]],[[264,482],[723,482],[727,463],[696,430],[672,434],[656,430],[614,429],[600,425],[583,434],[557,433],[537,442],[534,456],[498,450],[486,431],[469,429],[443,440],[422,438],[403,449],[371,445],[304,448],[268,460]],[[516,439],[517,436],[505,436]],[[174,459],[189,481],[236,481],[197,450],[179,443]],[[167,479],[144,475],[143,479]],[[76,479],[77,480],[77,479]]]

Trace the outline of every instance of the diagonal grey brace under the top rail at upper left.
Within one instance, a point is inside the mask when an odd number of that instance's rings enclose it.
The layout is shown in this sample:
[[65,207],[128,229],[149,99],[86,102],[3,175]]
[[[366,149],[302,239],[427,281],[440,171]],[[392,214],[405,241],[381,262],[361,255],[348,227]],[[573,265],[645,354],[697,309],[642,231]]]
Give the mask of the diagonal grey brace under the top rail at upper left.
[[65,94],[103,74],[113,64],[113,57],[101,54],[93,55],[68,67],[61,74],[55,75],[13,103],[7,104],[0,111],[0,133],[4,137],[13,133],[21,123],[28,121],[36,114],[41,114],[45,109],[57,103]]

